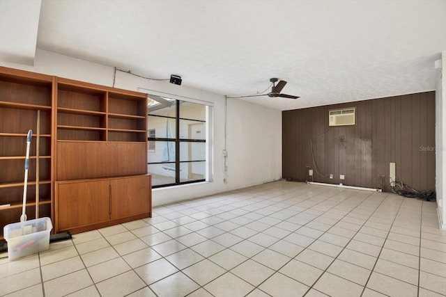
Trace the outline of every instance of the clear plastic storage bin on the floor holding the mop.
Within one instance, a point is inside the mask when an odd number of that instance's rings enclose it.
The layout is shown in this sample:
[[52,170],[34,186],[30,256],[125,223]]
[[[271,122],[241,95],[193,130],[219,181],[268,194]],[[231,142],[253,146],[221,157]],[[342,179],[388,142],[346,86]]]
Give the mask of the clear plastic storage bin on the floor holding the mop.
[[3,227],[3,236],[8,241],[8,258],[14,260],[47,250],[52,228],[49,218],[26,220]]

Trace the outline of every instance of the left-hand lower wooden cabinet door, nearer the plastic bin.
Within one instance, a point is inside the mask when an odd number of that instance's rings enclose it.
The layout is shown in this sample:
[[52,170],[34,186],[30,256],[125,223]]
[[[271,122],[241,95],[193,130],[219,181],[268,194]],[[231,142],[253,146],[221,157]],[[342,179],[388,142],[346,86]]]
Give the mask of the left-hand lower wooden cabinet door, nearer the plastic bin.
[[59,230],[100,223],[110,218],[109,180],[56,183]]

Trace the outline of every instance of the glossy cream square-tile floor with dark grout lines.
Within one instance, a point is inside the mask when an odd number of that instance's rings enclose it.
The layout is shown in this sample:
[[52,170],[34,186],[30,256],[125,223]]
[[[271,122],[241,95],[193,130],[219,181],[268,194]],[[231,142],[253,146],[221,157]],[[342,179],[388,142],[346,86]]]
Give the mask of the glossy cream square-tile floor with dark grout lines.
[[0,296],[446,296],[436,207],[263,184],[0,259]]

